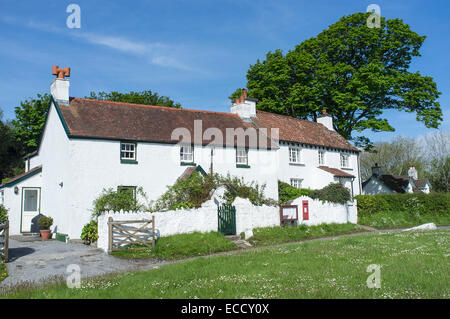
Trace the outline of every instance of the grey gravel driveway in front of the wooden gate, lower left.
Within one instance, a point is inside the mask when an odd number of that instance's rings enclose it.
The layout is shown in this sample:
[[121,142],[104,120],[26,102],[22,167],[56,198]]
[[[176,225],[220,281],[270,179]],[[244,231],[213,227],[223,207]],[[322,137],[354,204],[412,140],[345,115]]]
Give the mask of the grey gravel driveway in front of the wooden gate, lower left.
[[101,249],[77,243],[40,239],[25,242],[10,238],[9,262],[6,264],[8,277],[0,283],[0,288],[67,278],[70,274],[67,266],[71,264],[78,265],[81,277],[86,278],[119,271],[152,269],[168,262],[119,259]]

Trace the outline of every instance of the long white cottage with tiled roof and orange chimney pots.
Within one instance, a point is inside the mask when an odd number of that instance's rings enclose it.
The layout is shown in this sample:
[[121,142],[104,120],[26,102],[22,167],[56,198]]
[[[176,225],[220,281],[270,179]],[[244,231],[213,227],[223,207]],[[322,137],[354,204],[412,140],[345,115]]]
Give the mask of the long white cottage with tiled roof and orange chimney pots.
[[359,151],[326,113],[316,123],[256,111],[245,90],[230,113],[69,98],[70,70],[54,74],[38,150],[0,185],[10,234],[37,232],[44,214],[54,232],[79,238],[104,188],[143,187],[157,199],[193,170],[266,184],[275,200],[278,180],[312,189],[340,181],[361,193]]

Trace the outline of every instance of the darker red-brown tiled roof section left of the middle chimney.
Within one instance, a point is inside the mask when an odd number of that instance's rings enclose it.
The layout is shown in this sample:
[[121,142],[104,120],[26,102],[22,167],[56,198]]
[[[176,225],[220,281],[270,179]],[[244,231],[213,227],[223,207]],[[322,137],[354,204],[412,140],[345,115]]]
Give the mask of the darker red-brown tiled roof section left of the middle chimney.
[[[251,123],[241,120],[236,114],[210,111],[197,111],[142,104],[120,103],[91,99],[72,98],[70,105],[59,106],[69,129],[70,137],[89,137],[115,140],[133,140],[142,142],[178,143],[181,137],[172,139],[177,128],[186,128],[194,139],[194,121],[202,121],[202,132],[208,128],[217,128],[223,134],[223,143],[227,146],[238,145],[237,138],[226,143],[226,129],[253,128]],[[202,144],[215,140],[202,139]],[[254,147],[258,141],[245,146]],[[217,145],[222,145],[216,143]],[[241,145],[242,144],[242,145]],[[265,145],[270,148],[270,140]],[[244,146],[239,143],[238,146]],[[275,147],[274,144],[272,144]]]

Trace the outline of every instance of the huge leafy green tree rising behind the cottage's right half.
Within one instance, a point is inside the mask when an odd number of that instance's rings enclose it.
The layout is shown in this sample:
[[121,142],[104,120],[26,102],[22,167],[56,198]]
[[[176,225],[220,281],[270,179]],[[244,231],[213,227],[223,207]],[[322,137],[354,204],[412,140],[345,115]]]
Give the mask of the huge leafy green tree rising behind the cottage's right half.
[[365,130],[394,131],[385,110],[415,113],[426,127],[438,127],[442,110],[436,83],[408,71],[425,36],[401,19],[382,17],[380,28],[369,28],[369,15],[344,16],[287,54],[269,52],[251,65],[247,88],[259,99],[257,108],[310,120],[326,109],[335,129],[361,146],[370,145]]

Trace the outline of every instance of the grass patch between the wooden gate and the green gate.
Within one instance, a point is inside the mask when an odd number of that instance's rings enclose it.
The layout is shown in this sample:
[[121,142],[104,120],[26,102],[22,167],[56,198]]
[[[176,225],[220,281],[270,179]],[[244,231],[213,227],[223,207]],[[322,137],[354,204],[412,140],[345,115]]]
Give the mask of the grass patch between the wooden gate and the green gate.
[[159,258],[170,260],[209,255],[233,249],[237,249],[236,245],[227,240],[221,233],[194,232],[161,237],[156,241],[155,249],[142,246],[130,247],[115,251],[112,255],[130,259]]

